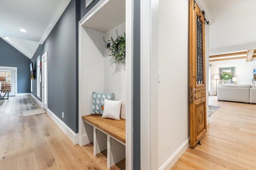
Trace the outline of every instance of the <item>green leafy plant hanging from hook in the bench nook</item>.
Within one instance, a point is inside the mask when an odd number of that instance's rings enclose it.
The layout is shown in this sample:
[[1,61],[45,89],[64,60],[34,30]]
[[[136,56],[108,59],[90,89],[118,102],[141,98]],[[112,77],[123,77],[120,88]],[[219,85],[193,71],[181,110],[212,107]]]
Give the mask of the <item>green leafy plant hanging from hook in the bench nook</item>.
[[[117,30],[116,34],[118,35]],[[118,35],[116,40],[111,37],[111,40],[108,41],[112,43],[112,45],[108,47],[111,52],[109,56],[113,57],[112,62],[115,64],[125,63],[125,33],[124,37]]]

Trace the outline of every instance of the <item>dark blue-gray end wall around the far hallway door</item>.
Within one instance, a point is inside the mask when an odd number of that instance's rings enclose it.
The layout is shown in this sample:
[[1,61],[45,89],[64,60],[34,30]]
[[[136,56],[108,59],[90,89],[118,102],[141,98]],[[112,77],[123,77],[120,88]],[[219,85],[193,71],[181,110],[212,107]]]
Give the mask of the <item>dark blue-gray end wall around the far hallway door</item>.
[[0,38],[0,66],[17,67],[18,93],[30,93],[30,59]]

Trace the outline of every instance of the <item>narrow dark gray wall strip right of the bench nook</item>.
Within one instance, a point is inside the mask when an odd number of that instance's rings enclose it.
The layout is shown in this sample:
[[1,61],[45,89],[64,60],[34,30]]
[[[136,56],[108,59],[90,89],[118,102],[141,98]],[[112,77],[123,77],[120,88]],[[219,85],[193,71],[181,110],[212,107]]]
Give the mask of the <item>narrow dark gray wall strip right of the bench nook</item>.
[[140,169],[140,0],[134,1],[133,28],[133,169]]

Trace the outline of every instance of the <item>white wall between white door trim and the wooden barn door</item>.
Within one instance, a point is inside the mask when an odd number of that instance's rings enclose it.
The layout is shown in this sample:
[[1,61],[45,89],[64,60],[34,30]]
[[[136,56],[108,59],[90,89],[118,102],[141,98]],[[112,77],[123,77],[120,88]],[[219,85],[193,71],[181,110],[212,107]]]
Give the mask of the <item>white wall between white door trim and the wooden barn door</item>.
[[[189,138],[188,1],[159,1],[158,166]],[[188,147],[188,146],[187,146]],[[186,148],[187,148],[186,147]],[[174,158],[175,159],[175,158]],[[177,161],[173,160],[173,164]],[[170,166],[167,166],[170,169]]]

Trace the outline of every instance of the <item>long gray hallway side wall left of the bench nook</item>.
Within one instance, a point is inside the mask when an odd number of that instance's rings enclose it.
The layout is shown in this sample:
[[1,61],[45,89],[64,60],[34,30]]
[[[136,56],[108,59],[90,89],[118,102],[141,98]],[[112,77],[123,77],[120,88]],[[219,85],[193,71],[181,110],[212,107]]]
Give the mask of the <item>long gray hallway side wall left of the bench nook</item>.
[[[72,0],[32,60],[48,51],[48,109],[78,133],[78,20],[80,2]],[[36,92],[36,83],[33,90]],[[62,118],[64,112],[64,118]]]

